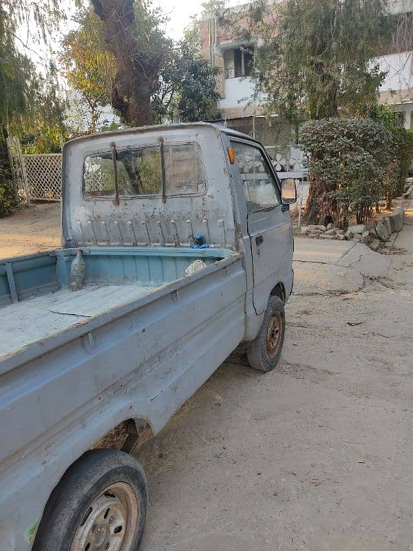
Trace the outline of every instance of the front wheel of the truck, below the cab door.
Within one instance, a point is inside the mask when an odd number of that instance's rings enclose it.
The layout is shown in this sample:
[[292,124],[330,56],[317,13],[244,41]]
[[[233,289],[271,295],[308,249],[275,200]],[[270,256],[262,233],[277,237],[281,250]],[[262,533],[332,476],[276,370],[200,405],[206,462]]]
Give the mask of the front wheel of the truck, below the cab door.
[[[248,362],[252,368],[257,369],[257,371],[272,371],[275,368],[281,355],[285,329],[284,304],[281,298],[271,296],[268,300],[260,333],[251,341],[246,351]],[[275,331],[277,338],[275,338]],[[270,342],[274,344],[275,341],[274,347],[269,344]]]

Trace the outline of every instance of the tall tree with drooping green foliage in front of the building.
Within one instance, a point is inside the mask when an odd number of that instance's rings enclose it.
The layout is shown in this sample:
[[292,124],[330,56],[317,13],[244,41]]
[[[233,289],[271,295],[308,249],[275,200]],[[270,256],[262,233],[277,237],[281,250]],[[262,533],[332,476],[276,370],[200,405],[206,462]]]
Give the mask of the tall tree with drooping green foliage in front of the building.
[[244,17],[244,37],[260,37],[255,77],[268,112],[295,123],[377,103],[384,75],[370,60],[389,40],[383,0],[286,0],[271,17],[256,0]]

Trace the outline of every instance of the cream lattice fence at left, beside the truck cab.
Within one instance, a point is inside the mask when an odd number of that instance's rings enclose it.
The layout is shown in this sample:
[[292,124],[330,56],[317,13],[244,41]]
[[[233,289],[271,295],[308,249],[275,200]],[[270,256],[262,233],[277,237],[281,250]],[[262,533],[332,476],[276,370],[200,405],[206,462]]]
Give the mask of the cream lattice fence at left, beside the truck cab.
[[22,154],[18,138],[8,138],[14,181],[21,200],[59,201],[62,187],[60,153]]

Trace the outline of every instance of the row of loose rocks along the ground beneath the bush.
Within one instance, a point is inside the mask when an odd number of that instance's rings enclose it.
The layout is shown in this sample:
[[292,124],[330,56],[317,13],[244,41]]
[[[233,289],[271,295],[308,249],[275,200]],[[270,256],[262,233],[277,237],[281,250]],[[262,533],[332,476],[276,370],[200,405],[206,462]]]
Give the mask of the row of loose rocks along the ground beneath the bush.
[[332,224],[308,225],[301,227],[301,235],[315,239],[337,239],[357,241],[368,245],[373,251],[377,251],[381,241],[387,241],[394,231],[400,231],[403,226],[404,209],[394,209],[392,214],[383,216],[376,224],[375,229],[367,229],[364,224],[349,226],[347,231],[336,228]]

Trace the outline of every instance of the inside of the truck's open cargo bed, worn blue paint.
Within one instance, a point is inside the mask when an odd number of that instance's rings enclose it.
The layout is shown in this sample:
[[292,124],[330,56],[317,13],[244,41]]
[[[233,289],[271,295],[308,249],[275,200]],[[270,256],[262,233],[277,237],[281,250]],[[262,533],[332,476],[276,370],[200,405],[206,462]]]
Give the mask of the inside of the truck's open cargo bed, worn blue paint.
[[233,253],[224,249],[85,248],[84,287],[70,291],[67,285],[75,254],[76,249],[64,249],[0,264],[0,360],[169,287],[197,258],[213,264]]

